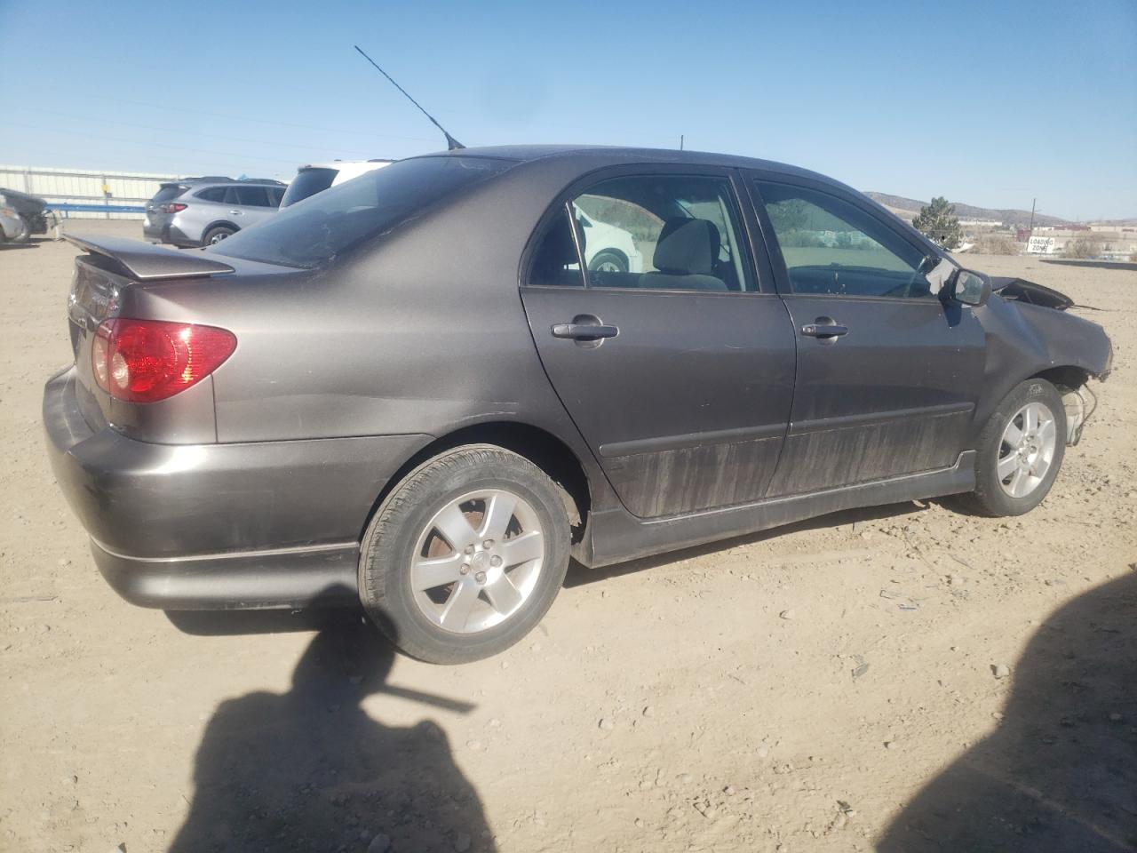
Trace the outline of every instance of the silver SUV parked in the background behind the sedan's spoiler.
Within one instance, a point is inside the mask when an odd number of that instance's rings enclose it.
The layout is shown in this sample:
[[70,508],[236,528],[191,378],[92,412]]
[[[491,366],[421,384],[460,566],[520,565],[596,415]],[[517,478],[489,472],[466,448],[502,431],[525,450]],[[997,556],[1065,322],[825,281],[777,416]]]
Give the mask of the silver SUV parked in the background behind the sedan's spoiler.
[[280,207],[284,184],[271,180],[186,177],[161,184],[146,206],[142,235],[180,247],[221,242]]

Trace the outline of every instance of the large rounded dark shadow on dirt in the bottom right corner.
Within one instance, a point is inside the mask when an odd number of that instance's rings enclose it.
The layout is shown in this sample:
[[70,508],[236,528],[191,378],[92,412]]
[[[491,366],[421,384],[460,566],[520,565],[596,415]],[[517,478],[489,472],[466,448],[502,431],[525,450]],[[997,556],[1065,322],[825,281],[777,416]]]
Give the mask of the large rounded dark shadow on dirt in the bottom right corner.
[[1137,574],[1043,624],[998,730],[936,777],[877,850],[1137,851]]

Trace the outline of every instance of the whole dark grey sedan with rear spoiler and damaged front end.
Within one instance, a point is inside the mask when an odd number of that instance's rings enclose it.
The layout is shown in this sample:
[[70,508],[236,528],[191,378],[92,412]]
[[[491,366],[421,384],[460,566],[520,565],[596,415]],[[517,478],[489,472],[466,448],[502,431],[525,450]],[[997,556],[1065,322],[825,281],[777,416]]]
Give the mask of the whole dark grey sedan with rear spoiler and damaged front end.
[[[584,197],[645,272],[583,263]],[[939,495],[1028,512],[1113,357],[1060,293],[740,157],[465,149],[204,252],[69,239],[75,363],[43,422],[110,585],[362,601],[437,662],[517,641],[570,555]]]

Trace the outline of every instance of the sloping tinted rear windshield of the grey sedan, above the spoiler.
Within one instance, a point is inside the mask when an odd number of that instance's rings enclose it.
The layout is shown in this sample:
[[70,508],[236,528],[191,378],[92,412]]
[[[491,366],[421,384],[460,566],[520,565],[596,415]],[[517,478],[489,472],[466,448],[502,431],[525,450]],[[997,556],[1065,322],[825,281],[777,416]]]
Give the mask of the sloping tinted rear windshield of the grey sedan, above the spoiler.
[[512,165],[462,156],[401,160],[292,205],[208,251],[312,268]]

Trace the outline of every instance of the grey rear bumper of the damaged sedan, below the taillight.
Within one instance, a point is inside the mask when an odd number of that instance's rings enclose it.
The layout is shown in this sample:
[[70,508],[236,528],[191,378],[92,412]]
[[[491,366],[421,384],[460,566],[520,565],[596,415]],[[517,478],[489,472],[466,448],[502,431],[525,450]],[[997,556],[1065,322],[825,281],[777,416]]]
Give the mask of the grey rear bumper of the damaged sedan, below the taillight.
[[127,601],[167,610],[354,599],[375,499],[430,440],[135,441],[88,425],[74,368],[48,381],[43,424],[51,467],[100,571]]

